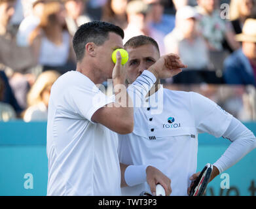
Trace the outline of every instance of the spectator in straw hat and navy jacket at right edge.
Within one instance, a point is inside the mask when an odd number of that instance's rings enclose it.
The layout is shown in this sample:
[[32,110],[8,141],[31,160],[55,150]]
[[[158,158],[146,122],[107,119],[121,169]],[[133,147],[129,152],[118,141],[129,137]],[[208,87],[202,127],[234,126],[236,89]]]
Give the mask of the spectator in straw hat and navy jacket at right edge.
[[225,60],[225,81],[227,84],[256,86],[256,19],[246,20],[236,40],[242,42],[242,48]]

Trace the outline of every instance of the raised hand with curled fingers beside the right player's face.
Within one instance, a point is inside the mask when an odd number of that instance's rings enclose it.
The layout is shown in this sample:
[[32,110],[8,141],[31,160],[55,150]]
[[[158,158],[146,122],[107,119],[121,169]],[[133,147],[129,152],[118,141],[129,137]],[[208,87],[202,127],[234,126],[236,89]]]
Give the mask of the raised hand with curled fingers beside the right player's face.
[[179,74],[183,68],[187,68],[187,65],[184,65],[180,57],[177,54],[167,54],[160,57],[151,67],[149,71],[155,74],[156,78],[171,78],[176,74]]

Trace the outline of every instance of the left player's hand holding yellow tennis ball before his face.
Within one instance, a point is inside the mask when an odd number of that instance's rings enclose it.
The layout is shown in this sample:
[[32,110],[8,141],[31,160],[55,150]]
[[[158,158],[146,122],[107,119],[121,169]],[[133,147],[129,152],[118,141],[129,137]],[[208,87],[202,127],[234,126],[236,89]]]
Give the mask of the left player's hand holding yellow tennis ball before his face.
[[124,83],[126,79],[126,71],[124,70],[124,65],[121,65],[122,57],[120,52],[117,52],[117,62],[112,72],[113,81],[117,80],[119,83]]

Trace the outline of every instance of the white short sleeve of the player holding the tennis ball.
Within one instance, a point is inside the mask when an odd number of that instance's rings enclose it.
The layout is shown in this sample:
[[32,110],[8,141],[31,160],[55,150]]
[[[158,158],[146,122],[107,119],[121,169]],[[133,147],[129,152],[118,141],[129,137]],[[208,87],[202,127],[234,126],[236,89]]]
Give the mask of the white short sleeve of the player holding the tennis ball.
[[113,103],[115,97],[108,97],[88,78],[77,80],[77,83],[68,88],[65,101],[69,104],[69,109],[82,118],[86,118],[93,123],[93,114],[101,107]]

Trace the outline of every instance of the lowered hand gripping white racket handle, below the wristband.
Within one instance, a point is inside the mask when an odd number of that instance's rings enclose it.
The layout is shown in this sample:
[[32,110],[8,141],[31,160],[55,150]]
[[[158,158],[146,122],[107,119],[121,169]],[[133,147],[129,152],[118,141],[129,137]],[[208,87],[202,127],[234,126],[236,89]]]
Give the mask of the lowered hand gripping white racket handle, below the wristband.
[[166,175],[164,175],[160,170],[155,167],[149,166],[146,169],[147,172],[147,184],[151,189],[153,196],[156,195],[156,184],[161,184],[166,191],[166,196],[172,193],[171,180]]

